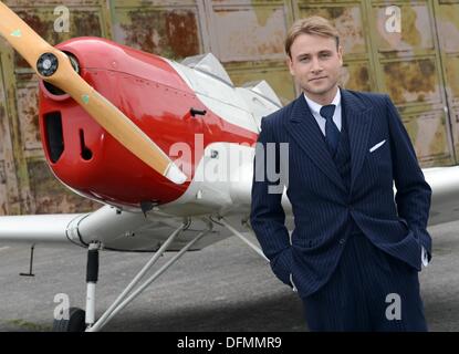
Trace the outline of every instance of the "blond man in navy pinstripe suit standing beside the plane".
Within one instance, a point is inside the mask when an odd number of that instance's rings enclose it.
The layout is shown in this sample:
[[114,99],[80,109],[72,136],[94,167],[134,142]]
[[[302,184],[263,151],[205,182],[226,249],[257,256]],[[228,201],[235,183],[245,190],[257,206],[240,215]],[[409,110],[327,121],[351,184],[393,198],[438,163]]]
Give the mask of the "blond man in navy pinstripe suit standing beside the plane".
[[[343,50],[325,19],[296,21],[285,51],[303,93],[262,119],[250,216],[273,272],[298,289],[312,331],[427,331],[418,271],[431,189],[397,110],[338,87]],[[288,157],[269,154],[281,143]],[[268,178],[286,163],[291,238]]]

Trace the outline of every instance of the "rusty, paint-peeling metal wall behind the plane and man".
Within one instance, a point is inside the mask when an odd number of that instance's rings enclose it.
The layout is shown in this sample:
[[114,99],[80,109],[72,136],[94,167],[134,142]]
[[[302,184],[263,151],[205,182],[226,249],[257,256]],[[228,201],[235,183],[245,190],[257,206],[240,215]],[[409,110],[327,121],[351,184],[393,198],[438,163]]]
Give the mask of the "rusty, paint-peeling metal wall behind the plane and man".
[[[424,167],[459,156],[459,1],[71,0],[6,1],[56,44],[97,35],[175,60],[212,52],[237,85],[264,79],[283,103],[299,93],[283,40],[299,18],[321,14],[345,51],[342,85],[387,92],[399,107]],[[70,32],[53,30],[54,9],[70,10]],[[401,32],[385,28],[401,10]],[[67,191],[44,163],[38,132],[36,76],[0,40],[0,214],[71,212],[93,202]]]

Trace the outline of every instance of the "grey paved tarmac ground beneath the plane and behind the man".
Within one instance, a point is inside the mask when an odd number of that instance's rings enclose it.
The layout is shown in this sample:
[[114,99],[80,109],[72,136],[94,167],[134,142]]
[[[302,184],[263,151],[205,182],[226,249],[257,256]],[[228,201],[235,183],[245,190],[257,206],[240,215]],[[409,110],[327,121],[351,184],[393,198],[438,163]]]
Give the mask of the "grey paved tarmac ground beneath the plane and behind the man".
[[[459,221],[429,229],[434,259],[420,273],[430,331],[459,332]],[[164,256],[160,267],[174,253]],[[145,253],[101,252],[97,315],[149,259]],[[0,331],[51,331],[54,296],[84,308],[86,252],[0,244]],[[156,268],[157,269],[157,268]],[[301,300],[236,237],[188,252],[131,303],[104,331],[307,331]]]

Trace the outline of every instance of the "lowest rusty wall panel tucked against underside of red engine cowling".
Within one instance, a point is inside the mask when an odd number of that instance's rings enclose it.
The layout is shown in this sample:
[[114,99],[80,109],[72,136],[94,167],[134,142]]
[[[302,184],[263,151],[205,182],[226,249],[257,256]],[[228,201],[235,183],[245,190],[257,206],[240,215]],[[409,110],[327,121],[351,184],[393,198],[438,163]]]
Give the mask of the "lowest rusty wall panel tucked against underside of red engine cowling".
[[43,160],[29,160],[31,194],[34,199],[33,214],[81,212],[94,210],[100,204],[82,198],[56,180]]

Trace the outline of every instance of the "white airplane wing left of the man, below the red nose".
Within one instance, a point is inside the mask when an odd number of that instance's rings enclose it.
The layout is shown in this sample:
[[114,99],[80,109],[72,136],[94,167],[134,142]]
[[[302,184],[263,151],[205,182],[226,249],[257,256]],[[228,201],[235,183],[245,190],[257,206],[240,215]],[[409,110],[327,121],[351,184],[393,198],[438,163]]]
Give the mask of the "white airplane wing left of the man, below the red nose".
[[[41,244],[50,247],[80,246],[101,242],[106,250],[152,252],[159,249],[170,233],[185,225],[184,231],[168,247],[180,250],[199,232],[208,229],[206,218],[184,218],[150,211],[121,211],[104,206],[90,214],[34,215],[0,217],[0,244]],[[194,244],[199,250],[230,236],[212,228]]]

